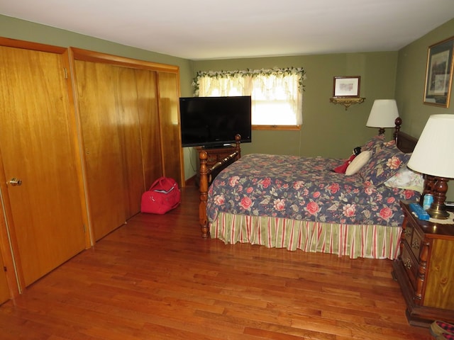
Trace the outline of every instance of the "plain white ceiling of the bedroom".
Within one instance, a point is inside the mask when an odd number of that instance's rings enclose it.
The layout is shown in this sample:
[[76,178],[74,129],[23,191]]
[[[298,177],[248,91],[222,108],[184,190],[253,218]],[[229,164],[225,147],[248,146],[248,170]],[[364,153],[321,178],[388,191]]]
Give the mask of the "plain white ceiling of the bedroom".
[[454,18],[454,0],[0,0],[0,13],[204,60],[399,50]]

